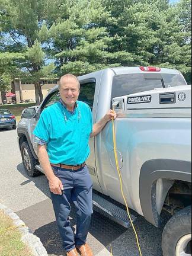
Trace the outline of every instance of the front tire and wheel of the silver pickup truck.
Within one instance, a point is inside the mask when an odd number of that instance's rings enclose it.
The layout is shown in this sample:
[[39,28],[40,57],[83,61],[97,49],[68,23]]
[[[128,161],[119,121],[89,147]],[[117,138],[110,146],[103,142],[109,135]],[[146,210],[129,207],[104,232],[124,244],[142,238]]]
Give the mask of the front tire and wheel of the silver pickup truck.
[[27,175],[29,177],[35,177],[39,175],[40,171],[37,171],[36,169],[38,162],[31,153],[31,149],[26,141],[21,144],[21,156]]

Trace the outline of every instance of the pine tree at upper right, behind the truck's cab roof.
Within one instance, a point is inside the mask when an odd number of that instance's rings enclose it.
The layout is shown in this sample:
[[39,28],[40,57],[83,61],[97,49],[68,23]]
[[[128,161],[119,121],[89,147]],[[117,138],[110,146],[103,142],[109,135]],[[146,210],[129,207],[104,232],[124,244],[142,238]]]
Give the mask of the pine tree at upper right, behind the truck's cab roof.
[[[105,0],[108,52],[123,66],[176,68],[191,82],[191,1]],[[114,59],[110,59],[114,63]]]

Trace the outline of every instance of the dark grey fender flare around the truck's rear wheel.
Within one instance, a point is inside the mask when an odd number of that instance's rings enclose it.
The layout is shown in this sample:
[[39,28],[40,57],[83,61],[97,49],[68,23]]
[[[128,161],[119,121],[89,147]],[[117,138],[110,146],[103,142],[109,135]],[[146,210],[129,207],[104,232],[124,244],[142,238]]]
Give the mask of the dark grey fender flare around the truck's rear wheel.
[[[161,223],[162,206],[174,180],[191,183],[191,162],[153,159],[146,161],[140,169],[139,194],[143,216],[156,227]],[[156,194],[158,183],[164,188],[161,199]]]

